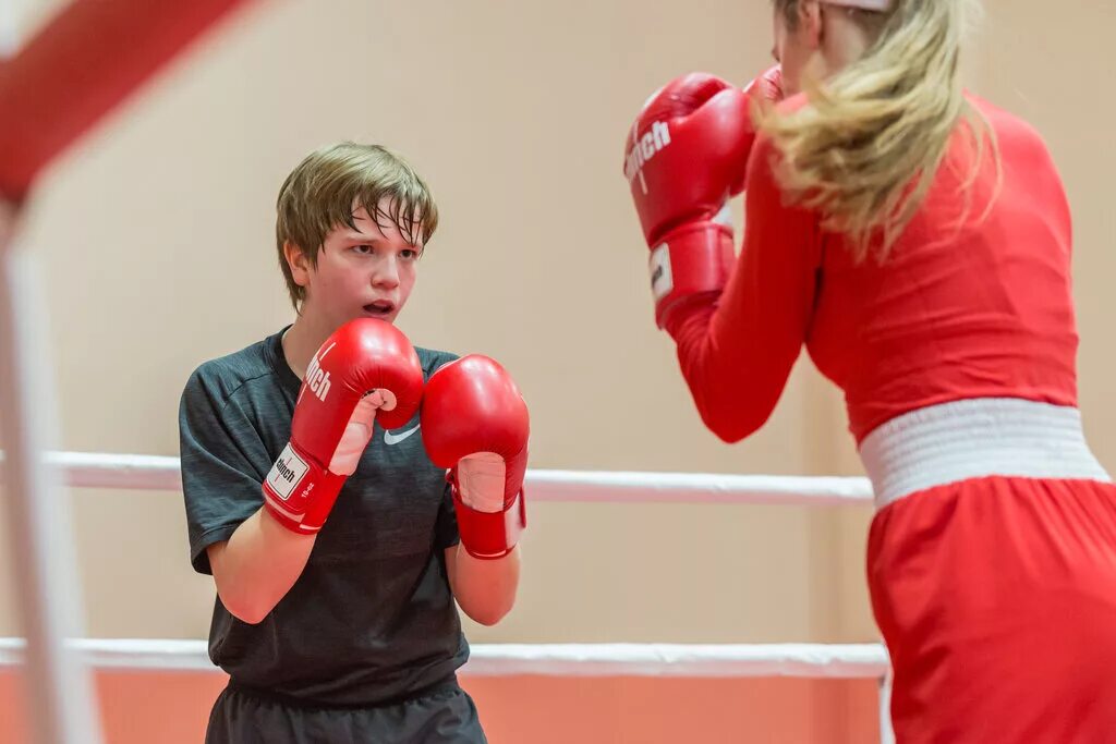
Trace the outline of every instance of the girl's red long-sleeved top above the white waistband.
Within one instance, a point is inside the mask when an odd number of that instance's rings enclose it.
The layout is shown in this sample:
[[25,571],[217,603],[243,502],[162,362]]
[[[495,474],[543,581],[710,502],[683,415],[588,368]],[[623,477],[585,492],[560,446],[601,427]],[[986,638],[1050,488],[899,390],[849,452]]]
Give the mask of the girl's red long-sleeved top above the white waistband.
[[[749,160],[743,247],[724,292],[667,328],[706,426],[728,442],[771,415],[805,345],[845,393],[859,443],[927,405],[1018,397],[1076,405],[1070,213],[1040,136],[970,98],[995,134],[975,181],[959,125],[930,192],[884,261],[855,262],[820,215],[785,204],[777,152]],[[966,212],[968,210],[968,212]]]

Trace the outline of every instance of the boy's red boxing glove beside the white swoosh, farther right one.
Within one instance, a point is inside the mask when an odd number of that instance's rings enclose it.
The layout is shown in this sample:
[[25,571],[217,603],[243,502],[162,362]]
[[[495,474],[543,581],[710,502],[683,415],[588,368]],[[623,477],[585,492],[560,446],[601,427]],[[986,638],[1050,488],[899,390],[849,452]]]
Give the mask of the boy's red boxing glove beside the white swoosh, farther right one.
[[461,544],[475,558],[502,558],[527,526],[523,475],[530,424],[527,403],[507,370],[469,355],[426,383],[423,444],[446,467]]

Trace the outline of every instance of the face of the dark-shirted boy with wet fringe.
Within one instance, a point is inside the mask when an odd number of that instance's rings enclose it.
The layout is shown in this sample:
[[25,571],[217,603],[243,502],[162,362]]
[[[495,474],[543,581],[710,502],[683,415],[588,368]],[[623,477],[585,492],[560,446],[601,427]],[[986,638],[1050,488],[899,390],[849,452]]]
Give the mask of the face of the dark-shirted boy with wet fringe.
[[394,322],[414,288],[422,247],[408,243],[386,216],[377,224],[364,207],[353,212],[353,223],[355,231],[340,225],[326,235],[317,267],[301,252],[291,261],[295,280],[306,288],[302,313],[320,316],[330,328],[355,318]]

